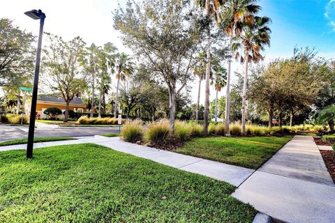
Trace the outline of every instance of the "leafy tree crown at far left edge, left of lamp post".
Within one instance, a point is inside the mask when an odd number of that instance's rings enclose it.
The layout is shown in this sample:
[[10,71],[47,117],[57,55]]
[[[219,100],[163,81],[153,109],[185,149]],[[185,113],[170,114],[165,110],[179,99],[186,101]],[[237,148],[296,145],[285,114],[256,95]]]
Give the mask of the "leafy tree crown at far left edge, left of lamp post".
[[0,86],[30,81],[34,74],[34,40],[31,33],[22,31],[11,20],[0,19]]

